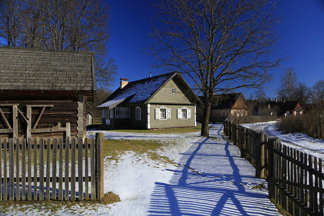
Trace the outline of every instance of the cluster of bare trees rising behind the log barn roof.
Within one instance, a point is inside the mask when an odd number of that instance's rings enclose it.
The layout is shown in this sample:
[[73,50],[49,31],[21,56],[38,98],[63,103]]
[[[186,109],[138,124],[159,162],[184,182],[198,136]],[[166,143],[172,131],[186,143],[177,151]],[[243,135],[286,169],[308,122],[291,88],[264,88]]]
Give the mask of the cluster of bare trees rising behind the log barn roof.
[[[5,9],[0,12],[0,37],[6,39],[6,46],[92,51],[96,54],[97,84],[103,88],[109,86],[117,65],[113,59],[104,58],[109,7],[103,0],[3,2],[0,3]],[[17,27],[13,28],[14,25]]]

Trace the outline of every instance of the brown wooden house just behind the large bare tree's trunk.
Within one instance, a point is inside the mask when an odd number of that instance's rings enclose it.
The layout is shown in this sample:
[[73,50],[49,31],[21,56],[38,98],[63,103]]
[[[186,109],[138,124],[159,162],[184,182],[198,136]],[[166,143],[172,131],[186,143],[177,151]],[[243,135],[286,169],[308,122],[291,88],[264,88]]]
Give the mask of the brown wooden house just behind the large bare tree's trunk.
[[[203,96],[200,96],[203,101]],[[210,109],[209,122],[222,123],[228,117],[246,116],[248,102],[243,93],[224,93],[214,95]],[[202,122],[204,106],[197,108],[197,121]]]

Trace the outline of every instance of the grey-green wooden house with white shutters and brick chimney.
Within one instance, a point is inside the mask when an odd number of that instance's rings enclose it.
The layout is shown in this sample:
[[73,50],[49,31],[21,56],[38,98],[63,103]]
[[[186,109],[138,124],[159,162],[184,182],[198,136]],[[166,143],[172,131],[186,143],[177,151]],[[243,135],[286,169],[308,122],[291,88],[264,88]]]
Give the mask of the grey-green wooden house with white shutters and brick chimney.
[[173,72],[132,82],[121,78],[120,87],[97,108],[103,124],[112,128],[193,127],[198,101],[180,73]]

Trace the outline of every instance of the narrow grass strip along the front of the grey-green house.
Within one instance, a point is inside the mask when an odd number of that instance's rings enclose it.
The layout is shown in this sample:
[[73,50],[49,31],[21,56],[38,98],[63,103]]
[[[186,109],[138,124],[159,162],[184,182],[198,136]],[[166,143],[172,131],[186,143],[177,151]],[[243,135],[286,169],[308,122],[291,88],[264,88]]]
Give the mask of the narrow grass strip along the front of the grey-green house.
[[149,134],[184,134],[184,133],[192,133],[201,131],[201,125],[197,125],[195,127],[183,127],[183,128],[170,128],[170,129],[157,129],[157,130],[135,130],[135,129],[116,129],[116,130],[109,130],[109,131],[116,131],[116,132],[128,132],[128,133],[149,133]]

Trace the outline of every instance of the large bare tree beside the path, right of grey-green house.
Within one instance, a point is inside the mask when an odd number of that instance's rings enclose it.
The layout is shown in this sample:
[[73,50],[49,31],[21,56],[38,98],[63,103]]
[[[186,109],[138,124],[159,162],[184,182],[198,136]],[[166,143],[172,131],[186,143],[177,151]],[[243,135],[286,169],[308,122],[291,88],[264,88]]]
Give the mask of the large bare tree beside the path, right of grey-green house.
[[278,21],[269,0],[161,0],[152,36],[156,67],[185,73],[204,95],[202,136],[209,136],[213,95],[258,88],[270,80]]

